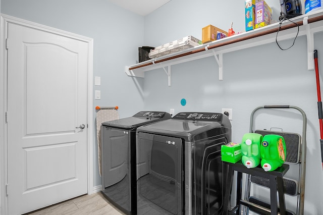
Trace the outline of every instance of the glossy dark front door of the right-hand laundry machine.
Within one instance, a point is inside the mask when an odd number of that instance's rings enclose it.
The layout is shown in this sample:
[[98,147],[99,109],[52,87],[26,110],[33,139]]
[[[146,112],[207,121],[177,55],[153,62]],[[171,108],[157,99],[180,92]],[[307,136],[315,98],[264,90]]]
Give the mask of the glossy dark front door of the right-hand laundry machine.
[[138,133],[138,214],[151,202],[159,207],[150,212],[182,213],[182,151],[181,138]]

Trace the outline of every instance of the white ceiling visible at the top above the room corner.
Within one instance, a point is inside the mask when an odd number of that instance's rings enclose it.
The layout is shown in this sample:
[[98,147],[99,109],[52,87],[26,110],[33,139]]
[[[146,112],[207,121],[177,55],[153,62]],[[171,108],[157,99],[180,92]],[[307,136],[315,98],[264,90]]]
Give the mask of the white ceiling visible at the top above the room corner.
[[128,11],[146,16],[171,0],[109,0]]

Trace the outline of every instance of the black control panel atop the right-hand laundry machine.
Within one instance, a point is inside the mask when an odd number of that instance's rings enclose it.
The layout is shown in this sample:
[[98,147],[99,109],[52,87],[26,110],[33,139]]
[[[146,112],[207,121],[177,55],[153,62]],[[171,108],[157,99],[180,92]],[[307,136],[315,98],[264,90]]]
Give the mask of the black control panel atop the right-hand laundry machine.
[[207,112],[181,112],[175,115],[172,119],[178,120],[203,120],[203,121],[222,121],[223,114],[207,113]]

